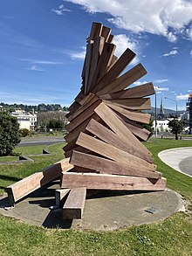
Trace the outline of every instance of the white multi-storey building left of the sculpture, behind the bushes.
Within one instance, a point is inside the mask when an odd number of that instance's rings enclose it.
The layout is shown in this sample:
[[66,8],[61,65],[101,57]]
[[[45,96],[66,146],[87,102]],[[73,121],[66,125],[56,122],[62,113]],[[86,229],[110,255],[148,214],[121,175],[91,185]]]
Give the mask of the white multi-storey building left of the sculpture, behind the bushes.
[[22,110],[16,110],[15,112],[12,112],[11,115],[17,117],[20,129],[27,128],[28,130],[33,131],[37,124],[37,114],[25,113]]

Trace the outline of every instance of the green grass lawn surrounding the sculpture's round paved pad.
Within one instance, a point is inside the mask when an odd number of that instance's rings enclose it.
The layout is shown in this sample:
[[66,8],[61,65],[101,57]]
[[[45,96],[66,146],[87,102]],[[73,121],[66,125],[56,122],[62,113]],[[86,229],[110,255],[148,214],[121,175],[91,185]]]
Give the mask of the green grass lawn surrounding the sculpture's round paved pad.
[[[192,178],[172,170],[157,156],[161,150],[189,147],[192,142],[153,138],[145,145],[154,155],[157,170],[167,177],[168,187],[180,192],[192,204]],[[8,169],[0,165],[2,191],[4,186],[63,158],[62,147],[63,143],[51,145],[48,149],[53,156],[35,157],[35,163],[14,165],[14,168],[10,166]],[[47,229],[0,215],[0,255],[190,256],[192,213],[178,212],[159,223],[132,226],[115,232]]]

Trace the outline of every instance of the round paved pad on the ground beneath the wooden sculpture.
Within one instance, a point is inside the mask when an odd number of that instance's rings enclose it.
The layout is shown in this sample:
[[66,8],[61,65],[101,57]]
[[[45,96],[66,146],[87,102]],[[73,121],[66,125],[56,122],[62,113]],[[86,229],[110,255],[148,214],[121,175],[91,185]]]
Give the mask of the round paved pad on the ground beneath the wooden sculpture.
[[175,211],[183,211],[182,198],[173,190],[134,193],[108,190],[86,199],[82,219],[64,220],[61,209],[50,210],[55,204],[55,189],[58,189],[58,182],[36,190],[12,209],[6,208],[9,206],[8,198],[2,197],[0,213],[31,225],[108,231],[156,222]]

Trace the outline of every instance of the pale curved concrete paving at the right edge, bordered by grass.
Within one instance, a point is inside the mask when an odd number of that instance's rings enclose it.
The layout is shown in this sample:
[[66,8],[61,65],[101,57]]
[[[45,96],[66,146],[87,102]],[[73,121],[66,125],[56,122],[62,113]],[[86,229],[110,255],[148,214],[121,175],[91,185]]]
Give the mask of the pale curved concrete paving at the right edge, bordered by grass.
[[158,156],[168,166],[192,177],[192,147],[167,149]]

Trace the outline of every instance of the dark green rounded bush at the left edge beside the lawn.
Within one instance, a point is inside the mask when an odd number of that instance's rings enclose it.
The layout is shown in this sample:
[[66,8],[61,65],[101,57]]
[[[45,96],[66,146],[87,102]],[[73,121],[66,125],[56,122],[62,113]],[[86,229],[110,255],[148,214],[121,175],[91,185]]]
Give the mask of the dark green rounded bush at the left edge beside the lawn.
[[18,134],[17,118],[8,114],[0,114],[0,156],[12,154],[15,146],[21,141]]

